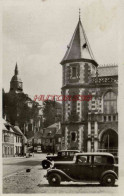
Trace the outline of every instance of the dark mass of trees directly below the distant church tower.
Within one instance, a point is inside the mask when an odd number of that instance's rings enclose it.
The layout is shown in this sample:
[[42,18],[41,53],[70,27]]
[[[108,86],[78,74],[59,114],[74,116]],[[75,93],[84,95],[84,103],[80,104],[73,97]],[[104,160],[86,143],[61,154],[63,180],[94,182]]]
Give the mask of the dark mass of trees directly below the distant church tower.
[[[28,102],[31,103],[31,107],[28,106]],[[35,121],[39,116],[39,104],[24,93],[5,93],[3,94],[3,114],[7,115],[7,120],[12,125],[17,122],[23,131],[26,122],[30,119]]]

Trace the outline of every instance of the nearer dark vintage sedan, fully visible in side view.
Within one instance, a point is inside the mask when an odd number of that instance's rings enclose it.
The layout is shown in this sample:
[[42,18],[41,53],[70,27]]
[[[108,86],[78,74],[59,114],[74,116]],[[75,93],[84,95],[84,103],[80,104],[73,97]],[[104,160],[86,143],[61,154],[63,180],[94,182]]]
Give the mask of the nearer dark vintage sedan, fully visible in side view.
[[113,186],[118,179],[118,166],[110,153],[77,153],[73,161],[55,162],[45,176],[51,186],[63,181],[95,182]]

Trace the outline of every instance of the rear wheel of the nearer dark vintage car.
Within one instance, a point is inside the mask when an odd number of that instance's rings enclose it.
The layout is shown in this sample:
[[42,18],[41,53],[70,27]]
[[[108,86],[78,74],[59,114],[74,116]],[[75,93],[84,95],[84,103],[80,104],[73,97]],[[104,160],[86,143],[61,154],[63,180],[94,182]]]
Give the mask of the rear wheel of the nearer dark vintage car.
[[115,184],[115,176],[113,174],[106,174],[103,176],[101,184],[103,186],[113,186]]

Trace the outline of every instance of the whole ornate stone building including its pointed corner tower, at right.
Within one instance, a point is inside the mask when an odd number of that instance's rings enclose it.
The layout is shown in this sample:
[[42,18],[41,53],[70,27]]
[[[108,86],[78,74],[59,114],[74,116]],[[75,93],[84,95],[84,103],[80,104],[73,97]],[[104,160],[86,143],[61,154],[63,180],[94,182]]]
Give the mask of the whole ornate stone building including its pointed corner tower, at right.
[[118,67],[99,66],[80,18],[61,65],[62,148],[117,154]]

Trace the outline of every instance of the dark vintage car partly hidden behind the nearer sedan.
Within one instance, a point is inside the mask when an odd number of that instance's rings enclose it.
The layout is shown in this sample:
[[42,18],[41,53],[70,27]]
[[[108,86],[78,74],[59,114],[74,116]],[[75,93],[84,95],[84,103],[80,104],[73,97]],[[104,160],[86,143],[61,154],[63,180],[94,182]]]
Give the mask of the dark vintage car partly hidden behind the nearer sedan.
[[50,167],[52,161],[72,161],[74,154],[79,153],[79,150],[61,150],[57,155],[48,155],[46,159],[41,162],[43,169]]

